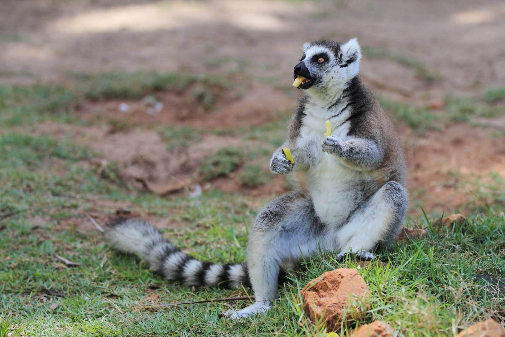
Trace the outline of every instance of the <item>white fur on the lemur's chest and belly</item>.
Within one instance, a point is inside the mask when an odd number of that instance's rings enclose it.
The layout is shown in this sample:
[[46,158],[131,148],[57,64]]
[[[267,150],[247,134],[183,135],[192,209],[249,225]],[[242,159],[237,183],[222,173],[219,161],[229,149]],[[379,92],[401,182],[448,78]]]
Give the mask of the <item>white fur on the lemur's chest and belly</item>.
[[347,136],[350,127],[348,111],[341,111],[335,116],[335,111],[309,105],[305,112],[307,116],[302,120],[300,136],[296,140],[297,152],[305,155],[305,165],[301,171],[305,175],[317,215],[325,223],[339,226],[366,202],[377,182],[370,173],[350,168],[335,155],[321,150],[328,119],[332,135],[340,137],[342,141],[352,138]]

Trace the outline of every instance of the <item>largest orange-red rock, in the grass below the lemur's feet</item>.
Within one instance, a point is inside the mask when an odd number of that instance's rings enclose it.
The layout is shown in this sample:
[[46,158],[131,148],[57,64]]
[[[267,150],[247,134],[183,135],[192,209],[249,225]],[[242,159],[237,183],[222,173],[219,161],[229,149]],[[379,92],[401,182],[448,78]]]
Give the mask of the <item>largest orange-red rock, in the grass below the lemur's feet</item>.
[[313,322],[318,322],[324,313],[323,321],[330,331],[338,328],[340,323],[348,318],[363,318],[365,313],[359,308],[350,308],[350,297],[354,295],[363,299],[369,293],[368,286],[358,270],[348,268],[328,271],[310,281],[300,292],[307,316]]

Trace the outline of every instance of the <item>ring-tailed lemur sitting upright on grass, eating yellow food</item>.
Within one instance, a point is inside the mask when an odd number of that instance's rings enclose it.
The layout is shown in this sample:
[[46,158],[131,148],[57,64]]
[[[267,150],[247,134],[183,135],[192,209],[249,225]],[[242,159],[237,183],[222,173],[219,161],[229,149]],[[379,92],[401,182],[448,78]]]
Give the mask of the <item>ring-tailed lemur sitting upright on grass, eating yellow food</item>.
[[[140,220],[125,220],[107,233],[120,251],[137,252],[155,271],[188,285],[251,285],[256,302],[232,318],[270,309],[277,280],[319,247],[373,259],[369,251],[390,247],[405,218],[407,169],[400,139],[377,99],[358,76],[356,39],[345,44],[304,44],[294,77],[305,78],[288,139],[270,169],[296,173],[299,188],[269,202],[256,217],[247,243],[247,264],[200,262]],[[325,136],[326,120],[331,136]],[[294,165],[282,149],[289,148]]]

